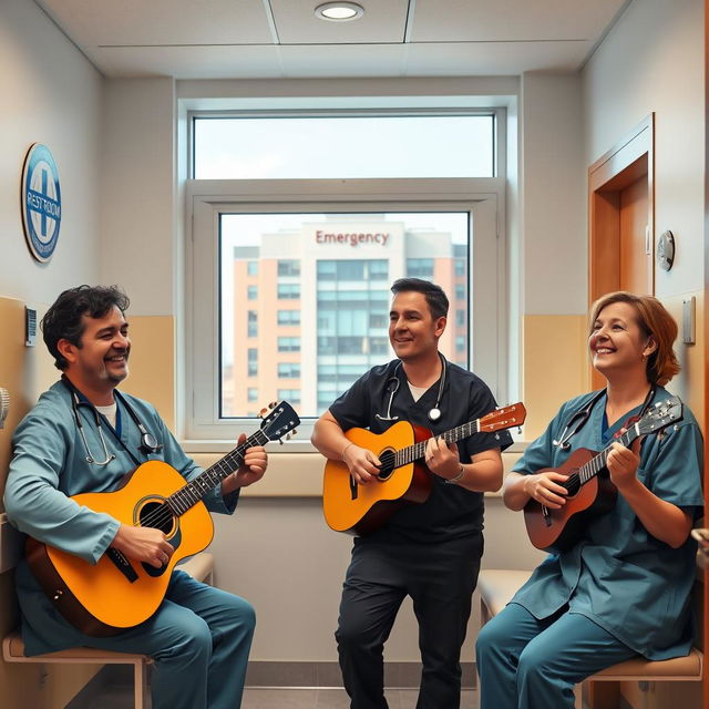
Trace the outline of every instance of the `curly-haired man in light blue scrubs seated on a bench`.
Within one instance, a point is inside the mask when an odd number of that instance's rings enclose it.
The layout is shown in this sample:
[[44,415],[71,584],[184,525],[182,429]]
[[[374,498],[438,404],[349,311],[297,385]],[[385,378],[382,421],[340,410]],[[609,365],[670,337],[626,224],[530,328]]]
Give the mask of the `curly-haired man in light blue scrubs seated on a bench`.
[[[161,568],[174,552],[162,531],[121,524],[70,499],[112,491],[148,460],[165,461],[186,480],[202,473],[150,403],[116,389],[129,373],[127,306],[116,287],[80,286],[48,310],[44,342],[62,379],[14,433],[4,504],[20,531],[86,562],[95,564],[112,547]],[[260,480],[266,466],[265,450],[249,448],[244,464],[203,499],[207,508],[232,514],[240,487]],[[154,709],[240,706],[255,626],[243,598],[175,571],[150,619],[113,637],[90,637],[58,613],[25,561],[17,589],[28,655],[76,646],[142,653],[155,660]]]

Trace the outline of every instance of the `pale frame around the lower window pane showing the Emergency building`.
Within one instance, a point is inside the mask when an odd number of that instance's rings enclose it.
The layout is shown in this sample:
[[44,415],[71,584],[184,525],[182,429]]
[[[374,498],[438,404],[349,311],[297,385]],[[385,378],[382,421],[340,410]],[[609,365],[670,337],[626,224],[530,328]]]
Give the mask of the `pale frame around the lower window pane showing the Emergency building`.
[[[497,143],[500,145],[500,143]],[[502,163],[504,164],[504,162]],[[222,213],[469,212],[469,348],[475,372],[506,401],[505,179],[187,181],[185,439],[191,450],[228,450],[258,428],[253,418],[219,419],[218,224]],[[306,317],[307,314],[304,314]],[[455,314],[450,314],[451,318]],[[386,358],[382,358],[382,361]],[[469,358],[470,359],[470,358]],[[362,372],[363,373],[363,372]],[[278,382],[275,382],[277,386]],[[302,382],[316,386],[316,382]],[[288,450],[312,450],[305,419]]]

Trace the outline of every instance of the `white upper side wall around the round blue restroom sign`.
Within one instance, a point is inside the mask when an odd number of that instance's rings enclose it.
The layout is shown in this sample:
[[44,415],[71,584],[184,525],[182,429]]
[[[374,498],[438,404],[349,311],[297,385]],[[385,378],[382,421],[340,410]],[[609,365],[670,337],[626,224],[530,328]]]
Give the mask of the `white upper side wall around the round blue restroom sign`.
[[[101,254],[102,78],[47,16],[27,0],[0,6],[0,295],[51,302],[60,290],[97,279]],[[30,255],[20,182],[32,143],[59,167],[62,223],[51,261]]]

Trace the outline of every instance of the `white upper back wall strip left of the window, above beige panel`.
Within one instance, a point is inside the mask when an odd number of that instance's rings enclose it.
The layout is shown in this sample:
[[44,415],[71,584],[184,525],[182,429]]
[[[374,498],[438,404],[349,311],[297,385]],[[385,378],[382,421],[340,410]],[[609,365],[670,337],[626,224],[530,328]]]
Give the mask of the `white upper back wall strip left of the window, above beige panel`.
[[105,82],[101,280],[126,290],[131,315],[177,309],[174,89],[172,79]]

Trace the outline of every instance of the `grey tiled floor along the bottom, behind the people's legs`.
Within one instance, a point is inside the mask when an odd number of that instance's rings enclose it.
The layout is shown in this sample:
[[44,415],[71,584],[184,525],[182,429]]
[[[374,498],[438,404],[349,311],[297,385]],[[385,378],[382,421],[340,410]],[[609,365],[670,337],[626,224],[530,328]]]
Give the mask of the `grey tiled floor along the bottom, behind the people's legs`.
[[[418,690],[391,689],[387,691],[389,709],[414,709]],[[101,695],[72,701],[66,709],[132,709],[132,688],[112,686]],[[150,709],[150,706],[148,708]],[[247,689],[242,709],[349,709],[343,689]],[[477,692],[464,690],[461,709],[477,709]]]

